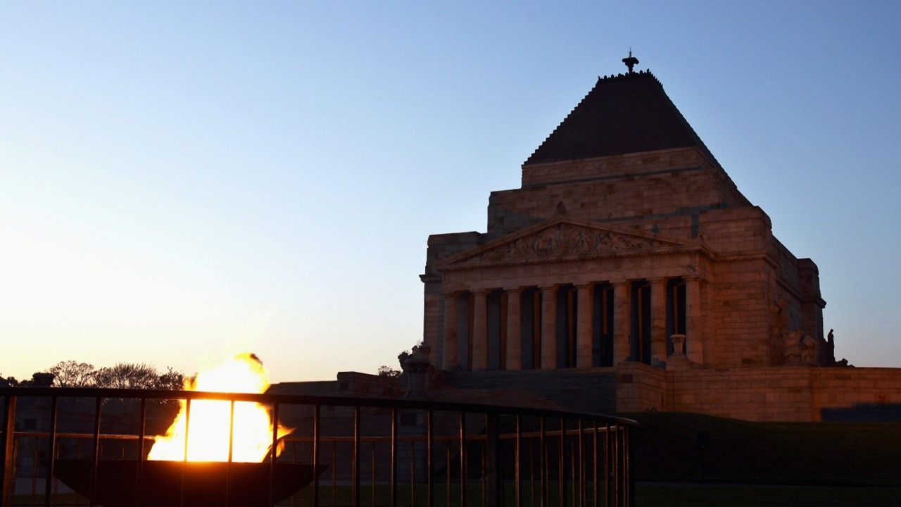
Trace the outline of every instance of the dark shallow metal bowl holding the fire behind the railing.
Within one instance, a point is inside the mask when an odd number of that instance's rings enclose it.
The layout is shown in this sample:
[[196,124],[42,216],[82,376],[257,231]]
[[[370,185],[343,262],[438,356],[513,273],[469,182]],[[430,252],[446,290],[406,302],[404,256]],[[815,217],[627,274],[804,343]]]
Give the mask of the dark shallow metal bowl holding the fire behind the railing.
[[[54,475],[90,498],[91,466],[84,459],[59,459]],[[300,491],[326,466],[303,463],[100,460],[94,501],[104,507],[267,507]]]

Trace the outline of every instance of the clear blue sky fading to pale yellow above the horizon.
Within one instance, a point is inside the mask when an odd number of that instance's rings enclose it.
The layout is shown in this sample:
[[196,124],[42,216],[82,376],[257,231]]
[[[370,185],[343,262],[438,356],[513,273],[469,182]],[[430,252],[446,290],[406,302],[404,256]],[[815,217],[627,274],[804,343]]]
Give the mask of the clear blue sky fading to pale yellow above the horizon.
[[836,355],[901,367],[901,2],[0,3],[0,374],[276,382],[422,337],[428,235],[632,47],[778,238]]

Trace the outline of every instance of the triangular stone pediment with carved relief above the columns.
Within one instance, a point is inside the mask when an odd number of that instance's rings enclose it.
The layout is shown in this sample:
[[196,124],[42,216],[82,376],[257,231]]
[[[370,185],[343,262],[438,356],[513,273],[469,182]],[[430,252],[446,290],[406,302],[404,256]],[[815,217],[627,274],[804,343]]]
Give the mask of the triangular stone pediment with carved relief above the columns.
[[555,259],[651,253],[687,246],[659,235],[643,235],[570,218],[551,218],[487,244],[453,255],[439,269],[482,264],[542,262]]

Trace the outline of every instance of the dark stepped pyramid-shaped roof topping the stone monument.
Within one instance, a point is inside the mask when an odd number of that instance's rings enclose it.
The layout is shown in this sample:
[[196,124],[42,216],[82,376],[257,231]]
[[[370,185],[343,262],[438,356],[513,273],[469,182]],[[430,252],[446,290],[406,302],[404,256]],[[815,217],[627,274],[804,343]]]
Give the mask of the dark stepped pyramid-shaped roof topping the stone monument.
[[524,165],[690,146],[717,163],[651,71],[630,72],[598,78]]

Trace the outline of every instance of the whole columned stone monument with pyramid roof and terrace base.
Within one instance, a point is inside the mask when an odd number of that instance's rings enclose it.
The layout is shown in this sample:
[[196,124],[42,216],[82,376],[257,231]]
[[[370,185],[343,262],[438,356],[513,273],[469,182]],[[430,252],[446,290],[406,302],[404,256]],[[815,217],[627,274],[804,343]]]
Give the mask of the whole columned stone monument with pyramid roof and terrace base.
[[743,419],[850,406],[833,373],[867,372],[824,368],[837,364],[816,264],[773,236],[660,81],[623,61],[523,163],[521,187],[491,193],[487,232],[429,237],[423,344],[443,389],[560,401],[555,385],[582,383],[597,386],[578,393],[589,405]]

